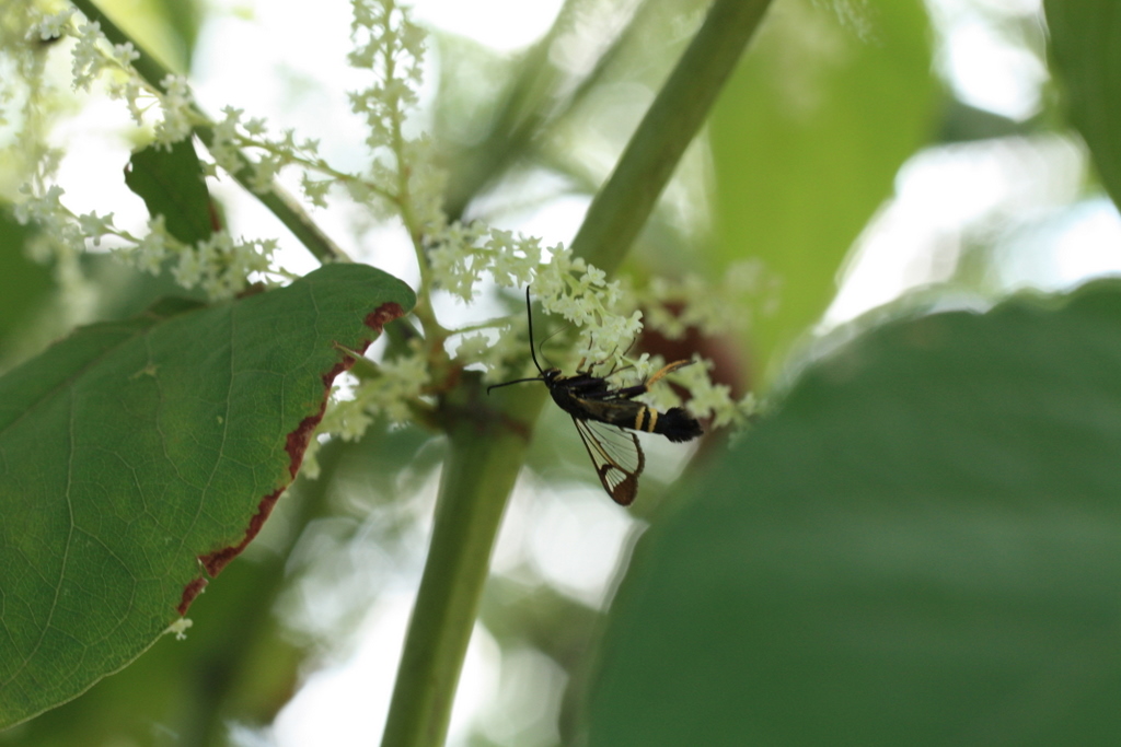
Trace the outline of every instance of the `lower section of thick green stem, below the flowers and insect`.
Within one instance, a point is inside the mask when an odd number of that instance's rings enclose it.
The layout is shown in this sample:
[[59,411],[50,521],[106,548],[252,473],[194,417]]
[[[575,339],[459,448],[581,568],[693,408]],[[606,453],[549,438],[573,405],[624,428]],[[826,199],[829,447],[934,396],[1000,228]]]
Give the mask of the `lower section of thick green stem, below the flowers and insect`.
[[444,744],[491,550],[544,403],[537,389],[512,394],[515,423],[489,407],[476,375],[466,379],[442,408],[448,456],[382,747]]

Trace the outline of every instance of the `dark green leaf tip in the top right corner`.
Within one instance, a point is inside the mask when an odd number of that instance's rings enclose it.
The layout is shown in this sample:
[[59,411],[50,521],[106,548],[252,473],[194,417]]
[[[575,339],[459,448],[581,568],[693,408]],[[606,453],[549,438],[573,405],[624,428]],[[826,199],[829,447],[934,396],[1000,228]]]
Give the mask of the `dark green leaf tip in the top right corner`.
[[1051,68],[1113,202],[1121,205],[1121,4],[1045,0]]

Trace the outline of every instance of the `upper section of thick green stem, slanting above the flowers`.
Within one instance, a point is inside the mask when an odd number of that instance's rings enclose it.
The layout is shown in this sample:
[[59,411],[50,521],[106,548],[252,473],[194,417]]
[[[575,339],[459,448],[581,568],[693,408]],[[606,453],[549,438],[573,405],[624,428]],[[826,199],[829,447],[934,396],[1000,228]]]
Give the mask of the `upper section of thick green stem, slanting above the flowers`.
[[612,274],[654,212],[770,0],[715,0],[592,200],[573,253]]

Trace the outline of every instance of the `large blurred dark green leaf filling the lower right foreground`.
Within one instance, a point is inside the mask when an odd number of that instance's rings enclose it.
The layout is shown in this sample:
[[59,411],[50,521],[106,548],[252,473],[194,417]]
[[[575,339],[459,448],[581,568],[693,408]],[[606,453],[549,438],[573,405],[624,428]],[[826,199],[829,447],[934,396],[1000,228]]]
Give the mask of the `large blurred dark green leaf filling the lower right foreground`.
[[599,745],[1121,743],[1121,283],[813,364],[639,540]]

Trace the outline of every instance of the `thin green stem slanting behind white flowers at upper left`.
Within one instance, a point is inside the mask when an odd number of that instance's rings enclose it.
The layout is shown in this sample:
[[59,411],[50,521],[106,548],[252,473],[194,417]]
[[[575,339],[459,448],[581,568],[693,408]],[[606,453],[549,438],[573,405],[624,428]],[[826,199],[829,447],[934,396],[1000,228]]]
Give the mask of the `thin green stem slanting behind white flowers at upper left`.
[[[157,91],[165,91],[164,78],[173,74],[168,67],[152,57],[136,39],[121,30],[112,19],[102,12],[93,0],[72,0],[72,2],[86,18],[98,21],[101,25],[101,31],[110,41],[113,44],[131,44],[140,55],[132,63],[133,68],[150,86]],[[192,109],[195,115],[205,122],[204,124],[196,125],[194,133],[198,136],[203,144],[210,148],[214,143],[214,121],[198,109],[197,105],[193,104]],[[254,190],[251,186],[253,167],[249,158],[239,151],[238,160],[241,162],[241,167],[233,174],[233,178],[249,190],[250,194],[261,200],[280,220],[285,227],[291,231],[293,235],[307,248],[307,251],[321,262],[350,261],[346,253],[327,234],[319,230],[315,222],[312,221],[312,217],[299,206],[299,203],[285,192],[280,185],[274,183],[265,192]]]

